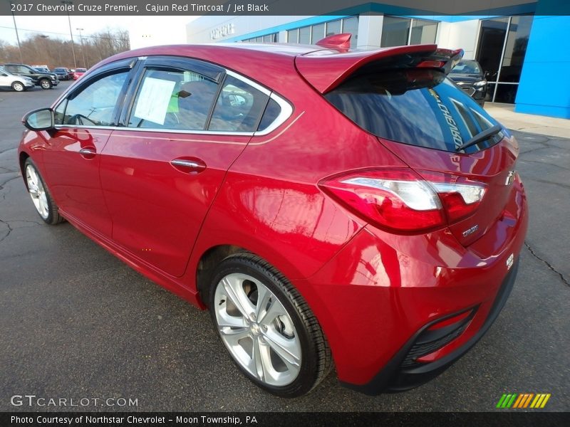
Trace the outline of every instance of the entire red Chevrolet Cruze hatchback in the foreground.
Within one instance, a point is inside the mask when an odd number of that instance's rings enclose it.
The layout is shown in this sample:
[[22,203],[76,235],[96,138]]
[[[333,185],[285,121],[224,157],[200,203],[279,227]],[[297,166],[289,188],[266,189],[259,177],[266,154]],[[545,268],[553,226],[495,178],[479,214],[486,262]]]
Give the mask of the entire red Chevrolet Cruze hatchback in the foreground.
[[93,67],[28,113],[43,221],[67,221],[208,308],[279,396],[336,367],[377,394],[427,381],[497,317],[527,201],[512,135],[435,45],[160,46]]

